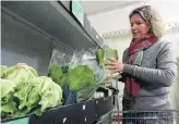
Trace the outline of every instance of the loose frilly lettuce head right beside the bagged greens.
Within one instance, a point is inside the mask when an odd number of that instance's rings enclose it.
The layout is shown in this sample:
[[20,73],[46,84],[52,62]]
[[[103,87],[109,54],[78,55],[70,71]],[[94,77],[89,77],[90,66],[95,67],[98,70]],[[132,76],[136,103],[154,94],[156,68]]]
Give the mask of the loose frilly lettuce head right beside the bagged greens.
[[41,76],[20,85],[14,96],[20,100],[19,115],[34,111],[41,113],[49,108],[62,104],[62,89],[50,77]]

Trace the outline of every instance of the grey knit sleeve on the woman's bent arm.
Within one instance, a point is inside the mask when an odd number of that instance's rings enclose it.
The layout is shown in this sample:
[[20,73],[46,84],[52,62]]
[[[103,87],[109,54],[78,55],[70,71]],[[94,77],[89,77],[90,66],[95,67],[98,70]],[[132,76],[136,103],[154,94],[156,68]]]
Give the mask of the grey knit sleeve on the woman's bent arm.
[[177,58],[171,44],[166,44],[157,55],[157,69],[124,64],[122,73],[150,84],[169,87],[177,76]]

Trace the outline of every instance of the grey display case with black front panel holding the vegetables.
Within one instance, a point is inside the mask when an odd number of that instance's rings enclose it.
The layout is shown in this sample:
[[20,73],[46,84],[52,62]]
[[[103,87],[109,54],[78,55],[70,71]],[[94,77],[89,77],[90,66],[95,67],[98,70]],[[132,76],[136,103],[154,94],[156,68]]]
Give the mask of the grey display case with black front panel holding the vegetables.
[[[59,1],[1,2],[1,64],[19,62],[33,66],[39,75],[48,75],[53,48],[67,54],[75,49],[94,53],[103,48],[103,38],[85,16],[80,25],[72,13]],[[87,22],[87,24],[86,24]],[[27,114],[1,120],[3,124],[94,124],[110,112],[117,96],[92,99],[76,104],[47,110],[41,116]]]

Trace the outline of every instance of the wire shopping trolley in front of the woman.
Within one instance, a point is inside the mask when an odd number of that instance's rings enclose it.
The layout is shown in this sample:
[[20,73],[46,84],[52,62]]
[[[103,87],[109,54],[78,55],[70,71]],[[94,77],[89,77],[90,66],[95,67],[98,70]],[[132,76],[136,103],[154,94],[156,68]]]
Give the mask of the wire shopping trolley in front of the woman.
[[179,109],[120,111],[117,106],[117,110],[104,115],[97,124],[179,124]]

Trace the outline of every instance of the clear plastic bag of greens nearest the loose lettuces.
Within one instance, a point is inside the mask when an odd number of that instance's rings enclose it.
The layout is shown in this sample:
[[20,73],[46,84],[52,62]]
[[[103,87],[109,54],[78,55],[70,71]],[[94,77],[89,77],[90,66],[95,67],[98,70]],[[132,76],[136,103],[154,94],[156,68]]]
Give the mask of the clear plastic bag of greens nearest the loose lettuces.
[[70,91],[68,88],[68,71],[70,65],[74,65],[75,59],[65,54],[57,49],[52,50],[51,60],[49,64],[48,76],[52,78],[55,83],[60,85],[63,90],[63,104],[75,103],[75,92]]

